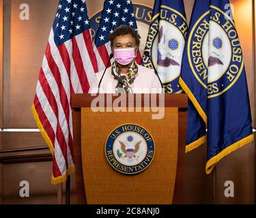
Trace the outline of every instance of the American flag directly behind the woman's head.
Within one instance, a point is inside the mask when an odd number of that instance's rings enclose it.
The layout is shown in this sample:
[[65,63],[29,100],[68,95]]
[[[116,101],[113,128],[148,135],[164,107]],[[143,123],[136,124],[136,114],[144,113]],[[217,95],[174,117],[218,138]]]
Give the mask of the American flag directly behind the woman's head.
[[[103,70],[109,62],[111,47],[109,33],[120,25],[137,29],[135,14],[131,0],[105,0],[100,25],[96,33],[94,52],[98,61],[98,69]],[[138,51],[137,63],[141,63],[141,52]]]

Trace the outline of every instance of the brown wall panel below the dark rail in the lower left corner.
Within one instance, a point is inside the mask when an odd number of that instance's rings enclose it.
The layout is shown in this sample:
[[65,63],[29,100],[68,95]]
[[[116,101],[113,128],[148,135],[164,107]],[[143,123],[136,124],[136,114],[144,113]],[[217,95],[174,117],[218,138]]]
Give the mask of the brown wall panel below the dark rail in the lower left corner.
[[[51,165],[51,162],[4,164],[3,204],[57,204],[57,186],[51,185]],[[29,198],[20,198],[20,181],[29,182]]]

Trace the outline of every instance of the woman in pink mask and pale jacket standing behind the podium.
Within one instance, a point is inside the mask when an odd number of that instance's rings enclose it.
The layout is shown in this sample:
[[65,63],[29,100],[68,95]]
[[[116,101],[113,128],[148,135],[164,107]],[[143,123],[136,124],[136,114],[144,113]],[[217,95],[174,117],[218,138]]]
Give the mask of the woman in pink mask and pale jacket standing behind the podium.
[[140,39],[137,30],[125,25],[110,33],[113,64],[95,74],[89,93],[162,93],[162,84],[154,70],[135,61]]

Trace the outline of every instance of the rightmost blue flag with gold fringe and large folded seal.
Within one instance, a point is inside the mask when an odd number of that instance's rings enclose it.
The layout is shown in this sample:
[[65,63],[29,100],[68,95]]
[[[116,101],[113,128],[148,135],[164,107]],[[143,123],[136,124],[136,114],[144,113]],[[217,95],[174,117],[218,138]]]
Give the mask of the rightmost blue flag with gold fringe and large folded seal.
[[220,159],[254,138],[242,48],[231,10],[225,10],[229,0],[196,0],[194,15],[199,4],[205,13],[190,26],[180,84],[208,129],[210,174]]

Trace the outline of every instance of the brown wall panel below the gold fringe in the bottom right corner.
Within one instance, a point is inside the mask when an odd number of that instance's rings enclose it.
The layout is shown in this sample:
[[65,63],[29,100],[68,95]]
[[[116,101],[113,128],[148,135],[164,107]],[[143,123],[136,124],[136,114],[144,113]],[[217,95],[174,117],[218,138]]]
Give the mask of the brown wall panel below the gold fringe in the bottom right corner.
[[[217,204],[255,204],[255,143],[243,146],[218,162]],[[224,195],[226,181],[234,183],[234,198]]]

